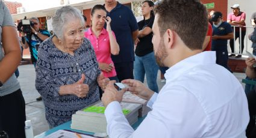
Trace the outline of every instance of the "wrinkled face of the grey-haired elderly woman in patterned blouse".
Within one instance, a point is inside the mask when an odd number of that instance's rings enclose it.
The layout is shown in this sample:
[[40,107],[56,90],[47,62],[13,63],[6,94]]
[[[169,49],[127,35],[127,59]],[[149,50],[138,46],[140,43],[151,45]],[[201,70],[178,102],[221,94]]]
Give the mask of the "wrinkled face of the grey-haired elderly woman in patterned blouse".
[[78,49],[84,38],[84,28],[80,19],[70,20],[63,29],[64,46],[72,51]]

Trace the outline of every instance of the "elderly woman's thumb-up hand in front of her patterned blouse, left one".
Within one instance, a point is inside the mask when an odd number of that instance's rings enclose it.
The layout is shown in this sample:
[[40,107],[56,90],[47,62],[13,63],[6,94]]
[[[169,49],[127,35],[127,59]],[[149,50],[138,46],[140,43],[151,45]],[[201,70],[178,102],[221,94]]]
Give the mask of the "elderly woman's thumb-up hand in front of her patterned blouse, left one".
[[73,83],[72,86],[72,94],[76,95],[77,97],[83,98],[86,97],[86,95],[89,92],[89,86],[87,84],[84,84],[84,80],[86,79],[86,76],[82,74],[82,77],[78,82]]

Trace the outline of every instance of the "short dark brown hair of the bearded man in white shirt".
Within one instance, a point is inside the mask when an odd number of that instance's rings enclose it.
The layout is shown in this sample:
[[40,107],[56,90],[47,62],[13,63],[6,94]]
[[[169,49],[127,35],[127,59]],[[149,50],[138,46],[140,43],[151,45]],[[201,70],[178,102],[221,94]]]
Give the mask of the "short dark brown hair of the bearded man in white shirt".
[[207,10],[198,0],[163,0],[154,9],[163,36],[167,29],[175,31],[192,50],[202,49],[208,29]]

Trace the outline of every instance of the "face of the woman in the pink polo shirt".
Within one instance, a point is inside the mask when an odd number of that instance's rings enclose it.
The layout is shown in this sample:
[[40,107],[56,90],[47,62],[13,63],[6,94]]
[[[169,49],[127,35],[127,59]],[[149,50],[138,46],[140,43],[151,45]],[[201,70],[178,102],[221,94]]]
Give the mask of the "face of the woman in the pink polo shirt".
[[95,10],[91,16],[92,27],[96,29],[102,29],[105,24],[107,13],[104,10]]

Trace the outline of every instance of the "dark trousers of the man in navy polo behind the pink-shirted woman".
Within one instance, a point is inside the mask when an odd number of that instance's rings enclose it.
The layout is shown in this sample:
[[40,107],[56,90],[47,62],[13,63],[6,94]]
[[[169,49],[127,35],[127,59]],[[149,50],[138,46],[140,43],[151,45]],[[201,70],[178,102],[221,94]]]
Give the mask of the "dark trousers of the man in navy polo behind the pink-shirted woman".
[[125,79],[134,79],[133,76],[133,62],[115,63],[114,68],[119,82]]

